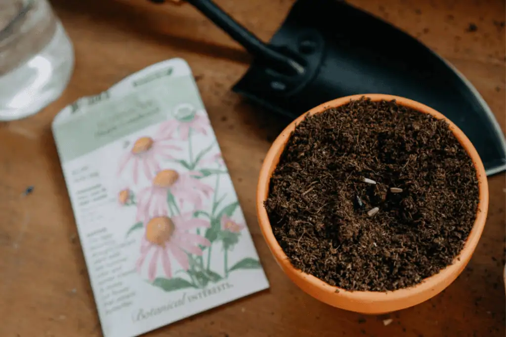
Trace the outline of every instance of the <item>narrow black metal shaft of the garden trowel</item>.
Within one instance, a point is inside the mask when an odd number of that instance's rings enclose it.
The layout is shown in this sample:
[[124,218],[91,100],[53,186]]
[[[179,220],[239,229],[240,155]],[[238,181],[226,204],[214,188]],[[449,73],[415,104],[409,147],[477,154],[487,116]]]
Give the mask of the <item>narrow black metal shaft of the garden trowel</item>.
[[[155,3],[163,3],[163,0],[151,0]],[[179,3],[179,1],[174,1]],[[286,73],[287,75],[298,75],[304,73],[304,67],[286,55],[272,49],[269,45],[260,40],[257,36],[232,19],[227,13],[219,8],[211,0],[186,0],[205,17],[213,21],[223,29],[230,37],[241,44],[255,58],[263,61],[272,69]]]

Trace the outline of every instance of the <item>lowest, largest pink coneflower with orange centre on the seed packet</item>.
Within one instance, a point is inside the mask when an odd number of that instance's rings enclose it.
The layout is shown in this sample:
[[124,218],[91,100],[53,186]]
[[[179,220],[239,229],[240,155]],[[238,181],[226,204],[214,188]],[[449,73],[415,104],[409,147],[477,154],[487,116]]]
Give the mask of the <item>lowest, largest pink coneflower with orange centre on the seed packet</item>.
[[151,255],[148,264],[148,278],[153,281],[156,278],[157,266],[161,261],[163,273],[167,278],[172,278],[174,260],[179,266],[187,271],[190,268],[187,254],[202,255],[199,247],[211,245],[209,240],[198,234],[190,233],[189,230],[209,227],[210,223],[203,219],[192,218],[191,213],[181,214],[169,218],[166,215],[155,216],[145,224],[145,234],[141,243],[141,255],[136,263],[136,269],[140,273],[144,261]]

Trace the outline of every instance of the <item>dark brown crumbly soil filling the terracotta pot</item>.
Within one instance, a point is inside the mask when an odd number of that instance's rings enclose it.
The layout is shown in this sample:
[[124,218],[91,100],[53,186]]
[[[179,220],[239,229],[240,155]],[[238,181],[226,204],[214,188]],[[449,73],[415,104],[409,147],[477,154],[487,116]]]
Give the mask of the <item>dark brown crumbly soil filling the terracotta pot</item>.
[[445,121],[362,99],[297,126],[265,206],[294,267],[347,290],[393,291],[452,263],[478,179]]

